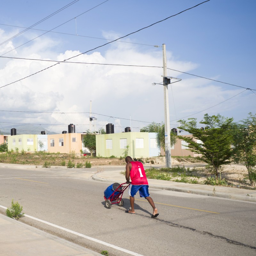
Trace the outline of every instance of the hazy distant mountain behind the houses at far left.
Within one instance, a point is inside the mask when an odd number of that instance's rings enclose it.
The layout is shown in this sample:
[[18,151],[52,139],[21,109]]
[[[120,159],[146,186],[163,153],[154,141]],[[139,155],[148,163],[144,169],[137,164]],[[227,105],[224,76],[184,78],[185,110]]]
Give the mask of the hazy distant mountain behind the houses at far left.
[[9,125],[0,127],[0,134],[11,134],[11,129],[16,129],[16,134],[41,134],[42,131],[45,131],[46,134],[57,134],[57,132],[49,132],[41,125],[33,125],[33,124],[17,124],[17,125]]

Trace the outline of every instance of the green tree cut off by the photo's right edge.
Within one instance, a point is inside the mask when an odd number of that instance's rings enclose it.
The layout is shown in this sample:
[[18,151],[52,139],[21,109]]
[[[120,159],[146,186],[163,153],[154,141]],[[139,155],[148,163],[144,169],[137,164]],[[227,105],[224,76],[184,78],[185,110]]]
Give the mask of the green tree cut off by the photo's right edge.
[[249,113],[242,124],[235,124],[233,136],[234,162],[245,165],[251,185],[254,187],[256,182],[256,115]]

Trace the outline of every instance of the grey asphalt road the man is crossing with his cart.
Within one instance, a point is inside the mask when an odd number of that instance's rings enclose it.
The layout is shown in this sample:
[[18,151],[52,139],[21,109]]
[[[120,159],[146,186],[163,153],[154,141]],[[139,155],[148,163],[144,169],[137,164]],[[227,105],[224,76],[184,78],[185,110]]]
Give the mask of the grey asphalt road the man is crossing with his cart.
[[110,256],[256,255],[255,203],[150,189],[160,213],[152,219],[152,208],[138,195],[137,214],[125,213],[127,190],[123,207],[105,208],[110,184],[91,180],[95,171],[1,168],[0,205],[10,207],[14,199],[44,222],[20,221]]

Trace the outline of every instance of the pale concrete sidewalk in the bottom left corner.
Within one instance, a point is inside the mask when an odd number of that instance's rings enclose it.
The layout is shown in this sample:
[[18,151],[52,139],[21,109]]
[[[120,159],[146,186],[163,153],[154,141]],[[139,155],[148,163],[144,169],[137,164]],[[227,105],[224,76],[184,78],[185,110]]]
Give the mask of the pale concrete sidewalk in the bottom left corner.
[[0,255],[3,256],[96,256],[77,244],[0,214]]

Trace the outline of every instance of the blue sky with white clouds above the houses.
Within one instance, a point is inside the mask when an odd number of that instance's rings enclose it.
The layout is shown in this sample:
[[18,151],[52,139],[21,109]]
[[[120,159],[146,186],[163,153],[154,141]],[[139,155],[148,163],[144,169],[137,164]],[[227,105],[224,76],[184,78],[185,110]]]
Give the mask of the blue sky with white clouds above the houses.
[[206,113],[255,114],[256,1],[203,2],[1,1],[0,131],[164,122],[163,44],[167,76],[181,79],[168,85],[171,129],[188,118],[201,127]]

